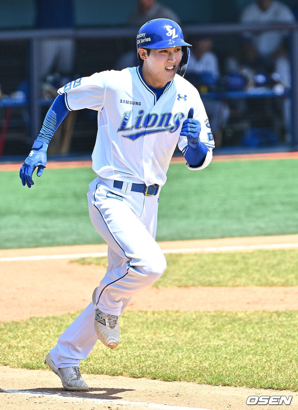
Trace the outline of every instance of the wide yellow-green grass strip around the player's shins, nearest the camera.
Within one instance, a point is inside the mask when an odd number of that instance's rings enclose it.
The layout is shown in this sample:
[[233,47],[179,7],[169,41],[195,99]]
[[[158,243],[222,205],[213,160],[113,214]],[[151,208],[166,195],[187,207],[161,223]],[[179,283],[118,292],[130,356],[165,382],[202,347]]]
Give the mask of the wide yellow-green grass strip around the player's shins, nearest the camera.
[[[0,323],[0,364],[44,368],[75,318]],[[125,312],[121,344],[98,342],[82,372],[212,385],[298,389],[298,312]]]

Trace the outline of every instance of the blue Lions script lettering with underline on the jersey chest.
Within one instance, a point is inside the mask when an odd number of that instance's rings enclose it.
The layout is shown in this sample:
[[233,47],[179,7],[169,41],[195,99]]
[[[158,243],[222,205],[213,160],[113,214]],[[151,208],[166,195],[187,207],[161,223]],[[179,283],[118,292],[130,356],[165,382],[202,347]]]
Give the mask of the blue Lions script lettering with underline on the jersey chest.
[[[171,112],[163,112],[162,114],[150,113],[144,116],[144,110],[140,109],[134,121],[131,121],[132,111],[125,111],[123,113],[121,125],[118,132],[136,131],[129,134],[122,134],[122,137],[129,138],[132,141],[139,137],[144,137],[149,134],[156,134],[157,132],[175,132],[180,127],[183,112],[172,114]],[[127,123],[134,124],[131,127]],[[145,130],[141,130],[145,128]],[[138,131],[137,131],[138,130]]]

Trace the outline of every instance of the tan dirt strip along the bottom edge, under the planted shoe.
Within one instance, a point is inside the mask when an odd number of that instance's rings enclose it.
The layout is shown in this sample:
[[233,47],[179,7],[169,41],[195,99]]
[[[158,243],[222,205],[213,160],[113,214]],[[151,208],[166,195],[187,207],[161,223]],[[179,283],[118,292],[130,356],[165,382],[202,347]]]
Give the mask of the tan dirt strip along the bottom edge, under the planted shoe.
[[[19,394],[0,394],[2,410],[172,410],[203,408],[242,410],[248,408],[248,396],[293,396],[291,410],[298,409],[298,393],[283,390],[248,389],[246,387],[198,385],[187,382],[163,382],[147,378],[82,375],[90,387],[88,393],[66,392],[60,379],[50,371],[0,367],[2,389]],[[21,387],[20,387],[21,386]],[[25,392],[31,394],[25,394]],[[21,393],[24,394],[21,394]],[[57,396],[58,395],[58,396]],[[125,403],[126,402],[126,403]],[[6,405],[5,405],[6,404]],[[155,404],[155,406],[153,406]],[[166,406],[165,406],[166,405]],[[280,406],[284,407],[284,405]]]

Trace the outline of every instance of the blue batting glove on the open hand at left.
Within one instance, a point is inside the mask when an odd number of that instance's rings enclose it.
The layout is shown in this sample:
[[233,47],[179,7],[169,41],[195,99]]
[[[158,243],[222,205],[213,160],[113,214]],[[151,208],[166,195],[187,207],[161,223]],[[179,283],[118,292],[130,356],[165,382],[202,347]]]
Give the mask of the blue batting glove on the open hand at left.
[[47,151],[48,144],[45,144],[41,141],[35,141],[30,154],[25,159],[24,164],[20,168],[20,179],[22,184],[25,187],[27,184],[28,188],[31,188],[34,185],[32,180],[32,174],[37,168],[37,176],[40,177],[43,173],[43,169],[46,168],[45,164],[47,163]]

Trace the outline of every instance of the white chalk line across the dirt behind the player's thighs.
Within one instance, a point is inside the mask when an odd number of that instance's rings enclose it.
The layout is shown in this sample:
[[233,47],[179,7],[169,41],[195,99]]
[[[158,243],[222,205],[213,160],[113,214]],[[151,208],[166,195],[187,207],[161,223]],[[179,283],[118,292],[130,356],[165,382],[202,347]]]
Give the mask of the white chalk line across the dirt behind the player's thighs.
[[[257,249],[289,249],[298,248],[297,244],[265,244],[265,245],[239,245],[239,246],[209,246],[205,248],[181,248],[164,249],[163,253],[208,253],[208,252],[233,252],[233,251],[256,251]],[[107,256],[107,252],[100,253],[73,253],[68,255],[36,255],[1,257],[0,262],[17,262],[25,260],[47,260],[47,259],[77,259],[81,257]]]

